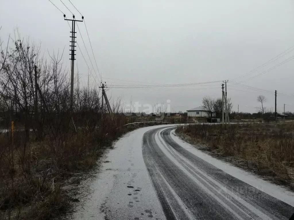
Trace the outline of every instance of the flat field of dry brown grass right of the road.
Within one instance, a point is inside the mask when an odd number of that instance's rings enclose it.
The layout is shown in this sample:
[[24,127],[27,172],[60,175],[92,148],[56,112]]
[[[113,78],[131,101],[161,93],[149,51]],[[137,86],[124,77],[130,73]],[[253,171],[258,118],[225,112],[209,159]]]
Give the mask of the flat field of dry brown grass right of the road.
[[216,156],[294,189],[294,123],[196,124],[177,133]]

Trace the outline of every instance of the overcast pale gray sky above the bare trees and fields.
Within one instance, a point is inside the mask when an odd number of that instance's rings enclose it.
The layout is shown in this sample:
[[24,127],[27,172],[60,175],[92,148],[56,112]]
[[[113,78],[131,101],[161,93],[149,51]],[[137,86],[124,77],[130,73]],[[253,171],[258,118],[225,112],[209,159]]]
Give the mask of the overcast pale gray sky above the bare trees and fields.
[[[71,18],[60,0],[51,1]],[[62,1],[80,19],[81,15],[71,3]],[[288,50],[290,52],[278,60],[250,72],[294,46],[294,2],[291,0],[72,0],[72,3],[85,17],[99,71],[108,85],[187,84],[228,79],[228,97],[232,99],[233,110],[237,110],[239,104],[240,111],[255,111],[259,94],[267,98],[265,106],[274,109],[276,89],[278,110],[283,111],[285,103],[286,111],[294,111],[294,95],[283,95],[294,94],[294,59],[258,75],[292,57],[294,51]],[[23,37],[30,35],[41,41],[43,50],[66,46],[64,61],[69,66],[69,26],[63,14],[48,0],[2,0],[0,21],[2,40],[18,26]],[[85,26],[78,25],[96,68]],[[79,34],[77,42],[81,51],[77,49],[76,60],[82,81],[86,82],[88,67],[81,53],[88,65],[92,65]],[[93,76],[96,77],[94,72]],[[96,82],[99,81],[96,77]],[[221,97],[220,84],[112,88],[107,93],[112,98],[122,95],[127,103],[131,96],[133,103],[151,105],[157,100],[169,99],[172,111],[186,111],[200,106],[205,95]],[[273,92],[260,92],[248,86]]]

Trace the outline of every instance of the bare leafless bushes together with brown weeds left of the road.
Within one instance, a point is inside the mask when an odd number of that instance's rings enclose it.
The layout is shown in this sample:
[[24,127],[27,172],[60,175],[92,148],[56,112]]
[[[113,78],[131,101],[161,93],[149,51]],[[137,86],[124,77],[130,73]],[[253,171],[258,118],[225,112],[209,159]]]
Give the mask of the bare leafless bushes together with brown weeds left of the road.
[[98,88],[80,86],[78,74],[71,109],[63,52],[46,59],[40,45],[19,36],[13,48],[0,45],[0,219],[59,218],[77,200],[69,185],[77,186],[78,174],[95,167],[135,119],[121,113],[121,98],[106,113]]

